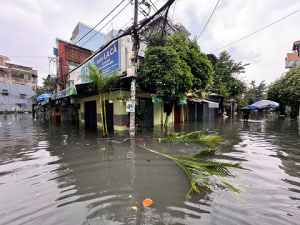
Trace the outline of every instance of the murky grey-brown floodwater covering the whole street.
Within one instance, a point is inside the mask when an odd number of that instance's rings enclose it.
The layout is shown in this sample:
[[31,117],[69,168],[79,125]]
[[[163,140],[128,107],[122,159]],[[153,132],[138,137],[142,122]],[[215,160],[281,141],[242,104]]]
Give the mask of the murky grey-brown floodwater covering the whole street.
[[[0,224],[299,224],[300,129],[289,117],[257,115],[243,122],[237,116],[170,127],[208,127],[231,143],[220,146],[214,159],[243,167],[226,178],[241,186],[241,194],[213,185],[214,191],[187,199],[182,169],[122,142],[126,135],[101,140],[81,124],[54,126],[30,114],[0,122]],[[155,127],[158,136],[162,132]],[[135,144],[170,155],[202,148],[151,136],[137,135]],[[142,207],[147,197],[153,204]]]

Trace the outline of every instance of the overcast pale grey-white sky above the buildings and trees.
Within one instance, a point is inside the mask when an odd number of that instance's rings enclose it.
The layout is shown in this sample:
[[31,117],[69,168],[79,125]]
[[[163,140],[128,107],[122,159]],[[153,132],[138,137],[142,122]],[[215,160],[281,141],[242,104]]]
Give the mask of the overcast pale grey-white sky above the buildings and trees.
[[[0,55],[9,56],[11,63],[36,68],[41,84],[41,77],[56,73],[47,58],[53,56],[55,38],[69,40],[78,21],[96,25],[119,2],[121,0],[0,0]],[[159,8],[166,0],[151,2]],[[96,28],[102,28],[127,3],[125,0]],[[192,33],[190,37],[198,36],[216,3],[217,0],[176,0],[169,15],[173,23],[180,22]],[[286,71],[286,53],[292,52],[293,41],[300,40],[300,11],[295,12],[299,9],[298,0],[219,0],[198,38],[199,46],[206,54],[218,56],[221,50],[226,50],[235,61],[250,63],[240,77],[246,82],[255,80],[258,84],[265,80],[268,84]],[[129,4],[110,26],[120,29],[132,17],[133,7]],[[265,26],[268,27],[215,51]],[[107,33],[108,29],[106,26],[102,31]]]

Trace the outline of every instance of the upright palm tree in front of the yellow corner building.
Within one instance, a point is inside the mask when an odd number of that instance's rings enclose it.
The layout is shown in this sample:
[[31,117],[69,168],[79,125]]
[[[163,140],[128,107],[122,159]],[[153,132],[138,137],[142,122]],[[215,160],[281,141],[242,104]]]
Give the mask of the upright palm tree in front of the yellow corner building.
[[102,122],[102,136],[108,137],[105,109],[105,92],[107,92],[111,84],[116,84],[119,81],[120,77],[118,76],[117,72],[103,75],[102,69],[99,70],[94,65],[89,64],[86,67],[89,68],[89,72],[85,75],[82,75],[82,77],[91,80],[97,88],[99,94],[100,115]]

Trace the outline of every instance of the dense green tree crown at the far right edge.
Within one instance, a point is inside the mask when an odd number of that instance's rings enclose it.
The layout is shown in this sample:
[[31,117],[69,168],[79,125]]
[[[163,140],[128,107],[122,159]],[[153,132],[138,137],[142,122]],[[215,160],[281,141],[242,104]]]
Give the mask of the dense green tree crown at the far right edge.
[[285,76],[272,83],[267,90],[267,99],[280,105],[300,106],[300,66],[289,70]]

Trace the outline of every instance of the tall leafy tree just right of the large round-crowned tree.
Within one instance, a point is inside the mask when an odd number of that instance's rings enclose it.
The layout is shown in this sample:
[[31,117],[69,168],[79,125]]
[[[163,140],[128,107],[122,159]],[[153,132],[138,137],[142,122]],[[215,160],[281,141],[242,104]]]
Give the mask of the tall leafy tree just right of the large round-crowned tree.
[[244,93],[246,90],[244,82],[234,77],[244,72],[244,66],[241,63],[241,61],[236,63],[227,51],[221,51],[218,61],[213,66],[212,84],[208,86],[207,91],[225,97],[234,97]]

